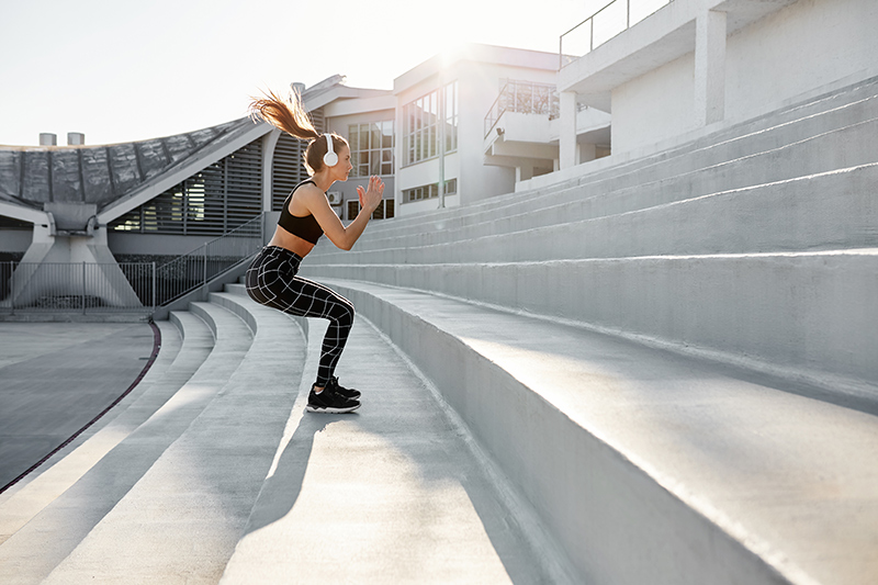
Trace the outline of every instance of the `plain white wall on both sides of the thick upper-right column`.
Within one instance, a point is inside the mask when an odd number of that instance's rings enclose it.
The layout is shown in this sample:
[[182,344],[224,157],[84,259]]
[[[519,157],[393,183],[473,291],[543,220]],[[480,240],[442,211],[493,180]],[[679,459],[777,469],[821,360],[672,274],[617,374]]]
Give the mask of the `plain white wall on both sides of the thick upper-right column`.
[[[800,0],[732,33],[724,120],[755,117],[821,88],[878,75],[877,26],[874,0]],[[615,153],[698,127],[694,67],[690,53],[614,89]]]

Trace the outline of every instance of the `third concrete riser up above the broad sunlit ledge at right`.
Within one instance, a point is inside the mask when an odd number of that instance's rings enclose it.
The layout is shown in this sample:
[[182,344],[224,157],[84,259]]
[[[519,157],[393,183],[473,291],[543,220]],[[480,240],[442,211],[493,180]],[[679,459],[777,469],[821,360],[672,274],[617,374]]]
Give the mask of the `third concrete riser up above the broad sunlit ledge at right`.
[[[454,220],[437,213],[414,226],[401,224],[398,229],[370,226],[356,249],[429,246],[558,225],[875,164],[878,161],[875,136],[878,136],[878,117],[718,164],[594,180],[559,188],[549,196],[514,203],[507,203],[505,196],[495,198],[493,207],[468,207],[458,212]],[[328,243],[318,246],[315,252],[335,254]]]

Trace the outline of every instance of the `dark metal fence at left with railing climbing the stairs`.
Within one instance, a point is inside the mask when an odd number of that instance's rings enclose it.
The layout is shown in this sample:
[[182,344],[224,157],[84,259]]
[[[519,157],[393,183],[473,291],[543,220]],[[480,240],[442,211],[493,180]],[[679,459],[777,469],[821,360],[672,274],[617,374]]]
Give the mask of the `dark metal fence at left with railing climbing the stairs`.
[[151,315],[262,247],[262,215],[165,265],[0,262],[0,311]]

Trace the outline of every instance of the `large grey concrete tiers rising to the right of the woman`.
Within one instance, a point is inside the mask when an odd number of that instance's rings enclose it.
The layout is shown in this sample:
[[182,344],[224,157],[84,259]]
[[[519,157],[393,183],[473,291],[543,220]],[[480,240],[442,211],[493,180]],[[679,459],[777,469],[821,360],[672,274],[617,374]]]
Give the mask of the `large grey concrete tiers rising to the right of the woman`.
[[877,124],[868,80],[375,222],[302,274],[436,384],[576,578],[874,583]]

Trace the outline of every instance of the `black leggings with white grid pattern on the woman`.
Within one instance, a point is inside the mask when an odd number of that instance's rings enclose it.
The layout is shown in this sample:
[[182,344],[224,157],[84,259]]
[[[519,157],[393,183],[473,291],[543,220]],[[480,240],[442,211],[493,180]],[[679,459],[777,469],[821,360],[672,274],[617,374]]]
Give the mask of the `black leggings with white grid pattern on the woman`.
[[259,304],[290,315],[329,319],[316,382],[318,387],[325,387],[348,342],[353,305],[337,292],[297,277],[301,262],[302,258],[288,249],[267,246],[247,269],[247,294]]

